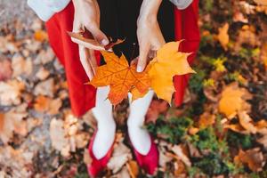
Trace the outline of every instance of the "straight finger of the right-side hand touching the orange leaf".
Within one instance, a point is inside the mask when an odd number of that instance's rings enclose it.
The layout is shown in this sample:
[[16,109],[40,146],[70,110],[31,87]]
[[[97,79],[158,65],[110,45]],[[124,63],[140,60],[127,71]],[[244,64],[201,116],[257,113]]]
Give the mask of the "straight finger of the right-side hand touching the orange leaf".
[[147,65],[148,54],[150,52],[150,44],[141,44],[139,59],[137,62],[137,72],[142,72]]

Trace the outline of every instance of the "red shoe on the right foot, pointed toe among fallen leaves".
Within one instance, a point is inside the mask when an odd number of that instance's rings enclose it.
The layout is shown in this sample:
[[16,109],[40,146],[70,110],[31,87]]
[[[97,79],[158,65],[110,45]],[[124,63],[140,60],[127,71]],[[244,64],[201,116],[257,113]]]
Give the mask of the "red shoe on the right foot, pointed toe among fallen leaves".
[[[128,139],[134,148],[133,143],[131,142],[130,136]],[[154,142],[150,134],[151,147],[147,155],[142,155],[140,152],[134,149],[134,155],[139,166],[141,166],[148,174],[153,175],[158,167],[158,147]]]

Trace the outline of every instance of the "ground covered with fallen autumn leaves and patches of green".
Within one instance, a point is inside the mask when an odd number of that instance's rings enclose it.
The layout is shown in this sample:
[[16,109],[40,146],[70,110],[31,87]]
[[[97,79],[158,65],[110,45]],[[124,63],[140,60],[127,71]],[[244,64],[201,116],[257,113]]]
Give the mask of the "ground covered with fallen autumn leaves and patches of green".
[[[155,99],[147,115],[160,150],[155,177],[267,177],[266,14],[264,0],[200,2],[198,73],[184,104]],[[71,115],[44,24],[1,23],[0,177],[88,177],[96,123]],[[147,177],[125,137],[127,105],[114,112],[117,144],[102,177]]]

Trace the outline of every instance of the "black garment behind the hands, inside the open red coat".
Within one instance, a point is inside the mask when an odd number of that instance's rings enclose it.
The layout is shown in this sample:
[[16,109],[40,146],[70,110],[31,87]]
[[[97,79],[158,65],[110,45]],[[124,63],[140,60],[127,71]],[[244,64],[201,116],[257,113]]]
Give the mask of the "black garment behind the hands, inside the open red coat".
[[[133,60],[139,55],[136,21],[142,0],[98,0],[98,3],[101,10],[101,30],[113,40],[125,38],[123,44],[113,48],[114,52],[117,55],[122,52],[128,61]],[[158,23],[166,42],[174,41],[173,8],[170,1],[163,0],[158,11]]]

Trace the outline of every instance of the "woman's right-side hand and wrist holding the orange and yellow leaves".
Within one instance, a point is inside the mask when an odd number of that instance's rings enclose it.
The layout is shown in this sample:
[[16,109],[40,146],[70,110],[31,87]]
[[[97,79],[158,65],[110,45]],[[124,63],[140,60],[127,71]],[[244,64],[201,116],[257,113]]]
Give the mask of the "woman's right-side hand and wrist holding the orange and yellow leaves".
[[165,39],[158,25],[158,8],[162,0],[143,0],[137,20],[137,38],[140,47],[137,71],[142,72],[147,65],[149,53],[157,51]]

